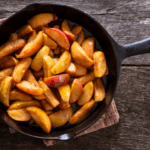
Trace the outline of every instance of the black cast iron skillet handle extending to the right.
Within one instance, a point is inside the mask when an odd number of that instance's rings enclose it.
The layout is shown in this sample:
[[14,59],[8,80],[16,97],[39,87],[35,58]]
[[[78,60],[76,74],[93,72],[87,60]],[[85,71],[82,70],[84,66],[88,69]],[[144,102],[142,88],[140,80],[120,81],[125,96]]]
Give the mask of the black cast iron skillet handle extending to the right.
[[150,53],[150,38],[127,45],[120,45],[120,47],[120,61],[122,62],[125,58],[133,55]]

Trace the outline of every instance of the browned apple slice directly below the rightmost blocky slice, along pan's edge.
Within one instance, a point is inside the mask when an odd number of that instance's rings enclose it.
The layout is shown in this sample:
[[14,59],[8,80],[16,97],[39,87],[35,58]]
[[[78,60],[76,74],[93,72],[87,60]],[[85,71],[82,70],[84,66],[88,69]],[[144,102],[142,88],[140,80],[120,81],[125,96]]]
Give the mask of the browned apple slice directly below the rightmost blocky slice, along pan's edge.
[[94,100],[100,102],[105,98],[105,87],[101,78],[95,78],[94,80]]

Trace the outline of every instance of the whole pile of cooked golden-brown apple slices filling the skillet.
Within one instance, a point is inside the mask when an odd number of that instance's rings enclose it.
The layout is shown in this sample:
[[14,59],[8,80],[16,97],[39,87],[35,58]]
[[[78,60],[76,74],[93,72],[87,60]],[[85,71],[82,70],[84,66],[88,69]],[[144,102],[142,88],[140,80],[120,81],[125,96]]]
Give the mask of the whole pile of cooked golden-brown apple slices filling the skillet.
[[102,77],[109,73],[94,37],[85,38],[82,26],[71,29],[66,20],[48,26],[57,19],[35,15],[0,47],[0,102],[12,119],[38,124],[47,134],[84,119],[105,98]]

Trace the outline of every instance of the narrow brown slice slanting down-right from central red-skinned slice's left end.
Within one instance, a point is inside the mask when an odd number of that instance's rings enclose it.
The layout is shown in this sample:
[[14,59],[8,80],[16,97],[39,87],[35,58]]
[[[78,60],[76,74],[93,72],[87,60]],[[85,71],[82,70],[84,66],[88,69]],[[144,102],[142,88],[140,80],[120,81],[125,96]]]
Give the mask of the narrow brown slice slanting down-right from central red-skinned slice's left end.
[[54,92],[43,81],[39,81],[39,86],[44,90],[44,95],[46,96],[47,102],[52,107],[57,107],[59,105],[59,101]]

